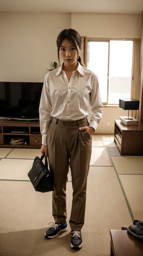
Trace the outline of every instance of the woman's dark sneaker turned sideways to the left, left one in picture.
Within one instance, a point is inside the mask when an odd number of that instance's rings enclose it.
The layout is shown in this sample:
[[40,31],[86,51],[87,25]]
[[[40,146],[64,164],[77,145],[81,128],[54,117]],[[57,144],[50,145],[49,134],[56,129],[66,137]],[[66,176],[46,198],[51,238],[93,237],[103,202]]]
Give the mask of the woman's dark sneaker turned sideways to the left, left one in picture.
[[65,222],[65,224],[58,224],[55,223],[54,225],[52,225],[52,227],[50,227],[46,233],[45,233],[45,237],[46,238],[55,238],[57,237],[60,233],[65,232],[68,230],[68,226],[67,226],[67,222]]

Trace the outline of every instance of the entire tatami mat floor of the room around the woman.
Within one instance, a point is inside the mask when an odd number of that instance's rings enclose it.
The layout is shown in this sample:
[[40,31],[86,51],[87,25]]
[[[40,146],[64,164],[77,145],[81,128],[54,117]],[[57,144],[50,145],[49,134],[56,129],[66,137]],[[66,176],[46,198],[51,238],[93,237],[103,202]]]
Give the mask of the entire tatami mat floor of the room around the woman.
[[[92,136],[92,155],[87,184],[82,256],[109,256],[110,229],[143,219],[143,157],[114,154],[113,136]],[[69,256],[69,230],[59,237],[44,238],[52,218],[52,192],[38,193],[27,173],[39,149],[0,148],[0,255]],[[115,155],[112,157],[112,155]],[[111,157],[110,157],[111,156]],[[129,167],[130,165],[130,167]],[[72,205],[72,177],[67,183],[67,220]],[[121,186],[122,185],[122,186]],[[125,196],[126,195],[126,196]]]

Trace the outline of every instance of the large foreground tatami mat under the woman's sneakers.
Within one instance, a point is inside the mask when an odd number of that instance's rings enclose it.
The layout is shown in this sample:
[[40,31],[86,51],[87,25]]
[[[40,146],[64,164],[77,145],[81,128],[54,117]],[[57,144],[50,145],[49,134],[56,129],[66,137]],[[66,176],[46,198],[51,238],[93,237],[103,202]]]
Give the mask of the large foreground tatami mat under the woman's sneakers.
[[[52,193],[38,193],[30,182],[0,181],[1,255],[73,255],[69,230],[46,240],[44,234],[52,218]],[[72,205],[72,183],[67,183],[67,221]],[[124,213],[124,214],[123,214]],[[84,245],[76,255],[109,255],[110,229],[132,222],[113,167],[90,167],[87,184]]]

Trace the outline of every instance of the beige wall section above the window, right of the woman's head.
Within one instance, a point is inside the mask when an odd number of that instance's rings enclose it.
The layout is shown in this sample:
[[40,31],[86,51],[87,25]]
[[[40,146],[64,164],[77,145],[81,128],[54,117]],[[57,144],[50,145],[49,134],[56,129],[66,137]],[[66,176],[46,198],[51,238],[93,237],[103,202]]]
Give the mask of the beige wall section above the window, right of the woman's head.
[[72,13],[72,29],[88,37],[141,38],[141,14]]

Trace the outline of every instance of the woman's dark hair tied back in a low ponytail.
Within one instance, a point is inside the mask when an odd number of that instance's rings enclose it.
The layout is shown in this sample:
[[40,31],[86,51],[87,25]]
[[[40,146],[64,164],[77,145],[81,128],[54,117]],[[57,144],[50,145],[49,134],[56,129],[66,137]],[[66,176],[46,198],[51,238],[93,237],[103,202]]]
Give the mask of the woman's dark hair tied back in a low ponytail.
[[64,29],[62,30],[58,37],[57,37],[57,48],[58,48],[58,60],[60,63],[59,59],[59,49],[61,46],[61,43],[64,39],[67,39],[68,42],[70,42],[72,45],[75,46],[75,48],[78,51],[78,62],[81,64],[81,66],[85,67],[84,61],[82,60],[81,56],[79,56],[79,49],[81,50],[82,46],[82,39],[79,33],[75,29]]

